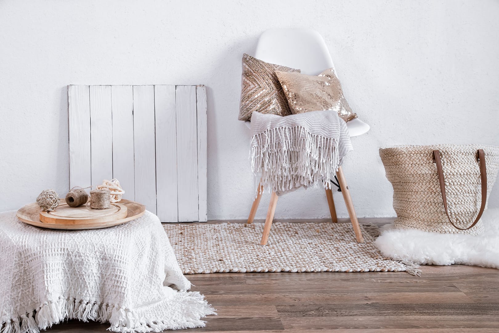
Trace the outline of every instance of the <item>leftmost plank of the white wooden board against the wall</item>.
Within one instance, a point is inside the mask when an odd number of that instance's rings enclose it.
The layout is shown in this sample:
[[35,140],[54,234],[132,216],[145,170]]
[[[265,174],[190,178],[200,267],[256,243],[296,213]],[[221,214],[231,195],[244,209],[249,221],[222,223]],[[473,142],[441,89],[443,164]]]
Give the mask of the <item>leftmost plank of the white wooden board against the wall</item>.
[[[69,188],[92,184],[90,173],[90,97],[88,85],[67,87]],[[88,190],[87,190],[88,191]]]

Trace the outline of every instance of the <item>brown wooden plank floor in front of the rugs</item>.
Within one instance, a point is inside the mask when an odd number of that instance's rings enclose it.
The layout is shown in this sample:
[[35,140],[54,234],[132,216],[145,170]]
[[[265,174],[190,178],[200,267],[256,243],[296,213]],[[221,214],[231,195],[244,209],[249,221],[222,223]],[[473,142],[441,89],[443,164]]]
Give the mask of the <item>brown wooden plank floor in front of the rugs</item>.
[[[455,265],[422,266],[422,271],[421,277],[405,272],[187,275],[192,290],[204,294],[218,316],[209,316],[205,328],[180,332],[499,332],[498,270]],[[104,333],[108,327],[71,321],[48,332]]]

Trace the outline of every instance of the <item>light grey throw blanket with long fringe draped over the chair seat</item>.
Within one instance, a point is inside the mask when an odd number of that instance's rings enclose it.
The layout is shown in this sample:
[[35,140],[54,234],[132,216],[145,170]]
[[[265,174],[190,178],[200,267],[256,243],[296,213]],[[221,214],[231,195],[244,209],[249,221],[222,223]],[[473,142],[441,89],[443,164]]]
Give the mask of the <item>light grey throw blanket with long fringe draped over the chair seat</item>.
[[277,195],[302,186],[330,188],[329,179],[352,150],[346,123],[336,111],[251,115],[255,194],[258,184]]

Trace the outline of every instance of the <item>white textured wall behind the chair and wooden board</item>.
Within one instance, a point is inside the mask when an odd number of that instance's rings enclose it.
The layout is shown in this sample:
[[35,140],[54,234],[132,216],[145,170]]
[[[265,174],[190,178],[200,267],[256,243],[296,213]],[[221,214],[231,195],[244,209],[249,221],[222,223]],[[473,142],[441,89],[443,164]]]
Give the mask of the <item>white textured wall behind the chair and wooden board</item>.
[[[67,84],[202,83],[208,217],[247,218],[241,56],[267,28],[311,27],[326,40],[352,109],[371,124],[344,166],[358,215],[393,216],[378,147],[499,145],[498,17],[497,0],[2,0],[0,211],[45,188],[68,189]],[[267,204],[268,195],[257,218]],[[499,185],[489,206],[499,207]],[[275,216],[328,216],[324,191],[280,198]]]

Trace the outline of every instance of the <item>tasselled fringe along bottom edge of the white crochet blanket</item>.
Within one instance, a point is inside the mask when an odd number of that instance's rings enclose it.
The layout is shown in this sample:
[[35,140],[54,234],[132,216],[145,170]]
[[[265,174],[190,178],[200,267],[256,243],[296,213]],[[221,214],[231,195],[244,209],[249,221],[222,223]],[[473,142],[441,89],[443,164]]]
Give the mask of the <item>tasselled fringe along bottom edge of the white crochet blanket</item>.
[[[216,314],[203,295],[197,292],[179,292],[178,297],[184,313],[176,311],[175,315],[172,314],[165,320],[139,320],[133,311],[119,305],[87,302],[72,297],[64,299],[61,296],[57,301],[44,302],[33,312],[2,322],[0,333],[39,333],[40,330],[70,319],[110,323],[108,330],[112,332],[160,332],[204,327],[206,322],[201,318]],[[174,318],[180,315],[183,315],[183,318]]]

